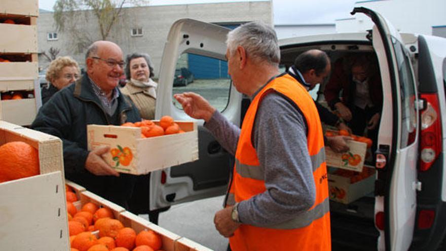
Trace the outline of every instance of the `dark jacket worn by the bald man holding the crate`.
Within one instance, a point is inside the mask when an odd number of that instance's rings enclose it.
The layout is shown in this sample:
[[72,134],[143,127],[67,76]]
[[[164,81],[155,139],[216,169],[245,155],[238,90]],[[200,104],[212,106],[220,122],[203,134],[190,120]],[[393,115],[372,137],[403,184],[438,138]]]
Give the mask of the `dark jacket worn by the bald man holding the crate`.
[[87,75],[84,75],[76,83],[56,92],[41,107],[31,128],[62,139],[66,178],[99,196],[126,206],[123,201],[125,198],[118,198],[120,195],[116,197],[113,194],[114,190],[117,190],[115,192],[122,196],[130,196],[133,190],[133,175],[96,176],[84,168],[89,154],[87,125],[120,125],[136,121],[141,121],[138,110],[130,99],[122,94],[118,97],[117,111],[113,116],[109,116],[102,108]]

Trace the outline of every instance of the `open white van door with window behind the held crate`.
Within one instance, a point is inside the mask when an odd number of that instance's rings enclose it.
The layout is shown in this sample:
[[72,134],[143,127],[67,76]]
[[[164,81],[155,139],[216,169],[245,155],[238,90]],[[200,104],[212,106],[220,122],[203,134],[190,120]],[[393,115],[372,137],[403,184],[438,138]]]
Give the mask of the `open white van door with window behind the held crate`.
[[[173,94],[196,92],[234,124],[240,124],[242,95],[232,87],[225,58],[229,31],[192,19],[176,21],[169,31],[160,66],[155,118],[169,115],[175,120],[196,121],[199,160],[151,173],[151,210],[226,192],[233,157],[203,127],[203,120],[184,113]],[[188,76],[182,76],[183,72]]]

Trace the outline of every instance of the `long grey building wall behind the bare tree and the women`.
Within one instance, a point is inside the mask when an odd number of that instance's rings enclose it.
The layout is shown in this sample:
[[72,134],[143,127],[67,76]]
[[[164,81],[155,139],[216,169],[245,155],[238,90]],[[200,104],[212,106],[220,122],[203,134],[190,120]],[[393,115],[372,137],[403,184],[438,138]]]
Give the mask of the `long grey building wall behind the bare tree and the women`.
[[[263,21],[273,24],[271,1],[252,1],[238,3],[190,4],[125,8],[120,21],[115,24],[107,40],[117,43],[124,55],[140,52],[148,53],[155,66],[158,77],[164,44],[171,25],[178,19],[192,18],[204,22],[231,24],[249,21]],[[82,33],[91,41],[100,40],[97,22],[94,18],[80,20]],[[132,28],[142,28],[142,37],[132,37]],[[58,56],[72,56],[81,67],[85,65],[86,48],[77,48],[70,41],[68,32],[59,32],[57,41],[48,41],[47,33],[54,32],[53,13],[41,13],[38,19],[39,51],[51,48],[60,49]],[[46,68],[49,61],[39,57],[39,65]]]

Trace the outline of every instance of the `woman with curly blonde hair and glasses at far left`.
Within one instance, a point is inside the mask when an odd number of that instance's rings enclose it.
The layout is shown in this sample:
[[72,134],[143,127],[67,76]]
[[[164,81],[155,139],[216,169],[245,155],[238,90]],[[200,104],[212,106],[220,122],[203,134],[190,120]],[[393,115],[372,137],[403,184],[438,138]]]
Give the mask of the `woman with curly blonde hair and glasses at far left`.
[[79,79],[78,62],[69,56],[57,57],[51,61],[47,69],[45,79],[48,85],[42,88],[42,105],[44,105],[54,93]]

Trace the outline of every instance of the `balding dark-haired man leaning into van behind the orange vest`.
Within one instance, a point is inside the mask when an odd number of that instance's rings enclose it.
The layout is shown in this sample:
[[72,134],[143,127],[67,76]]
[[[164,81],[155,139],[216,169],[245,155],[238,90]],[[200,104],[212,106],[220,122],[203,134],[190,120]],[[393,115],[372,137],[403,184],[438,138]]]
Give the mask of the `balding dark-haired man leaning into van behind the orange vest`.
[[[289,67],[288,74],[301,83],[308,91],[313,90],[317,84],[320,84],[330,74],[330,58],[321,50],[308,50],[301,53],[294,60],[294,64]],[[321,122],[335,126],[351,132],[351,129],[336,115],[328,111],[326,107],[314,101]],[[329,146],[334,152],[342,153],[349,150],[347,140],[352,139],[348,136],[324,137],[326,146]]]

